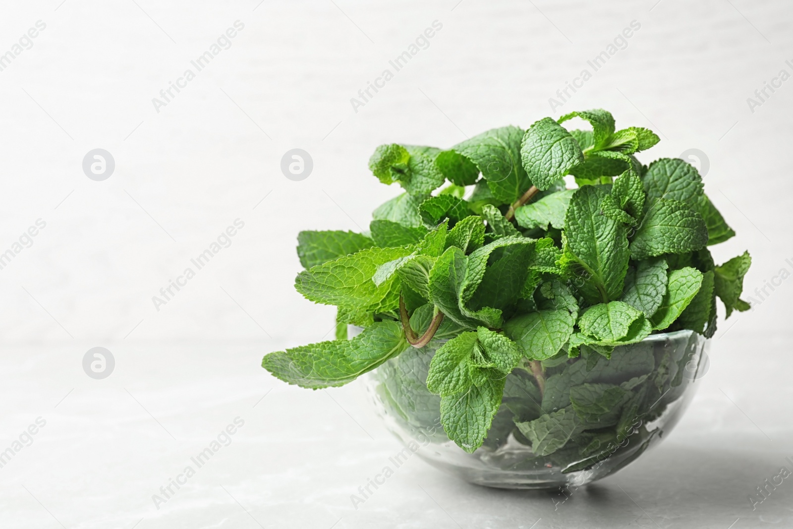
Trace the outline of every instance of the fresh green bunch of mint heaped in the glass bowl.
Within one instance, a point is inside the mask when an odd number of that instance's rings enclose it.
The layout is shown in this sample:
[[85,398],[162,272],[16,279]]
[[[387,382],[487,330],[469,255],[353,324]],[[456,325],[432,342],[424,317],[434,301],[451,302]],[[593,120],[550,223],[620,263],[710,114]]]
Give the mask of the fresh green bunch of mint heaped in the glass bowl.
[[[573,117],[592,130],[561,125]],[[552,366],[607,365],[615,347],[658,332],[711,337],[716,297],[726,316],[749,309],[740,295],[751,259],[714,265],[707,246],[734,232],[695,167],[681,159],[645,166],[634,156],[658,140],[646,128],[615,130],[611,113],[594,109],[528,130],[495,128],[445,151],[381,145],[371,171],[405,192],[374,210],[370,232],[298,236],[306,270],[295,288],[338,307],[336,339],[270,353],[262,366],[319,389],[347,384],[408,347],[440,344],[418,351],[435,353],[427,389],[440,397],[446,435],[473,452],[516,374],[545,401]],[[576,190],[565,189],[566,175]],[[363,331],[347,339],[347,324]],[[578,401],[589,408],[565,401],[532,422],[585,420],[592,408],[619,420],[634,386],[588,387],[584,379]],[[537,428],[523,433],[547,435]]]

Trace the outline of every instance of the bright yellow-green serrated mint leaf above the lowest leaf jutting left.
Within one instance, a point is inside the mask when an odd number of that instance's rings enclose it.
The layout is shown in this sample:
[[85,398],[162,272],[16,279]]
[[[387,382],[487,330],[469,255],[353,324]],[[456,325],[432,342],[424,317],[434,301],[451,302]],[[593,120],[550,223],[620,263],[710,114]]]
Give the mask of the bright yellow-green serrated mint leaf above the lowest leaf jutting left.
[[395,276],[380,286],[372,279],[379,266],[410,253],[409,247],[368,248],[302,271],[295,279],[295,289],[308,300],[325,305],[357,305],[374,312],[395,309]]

